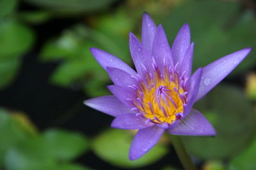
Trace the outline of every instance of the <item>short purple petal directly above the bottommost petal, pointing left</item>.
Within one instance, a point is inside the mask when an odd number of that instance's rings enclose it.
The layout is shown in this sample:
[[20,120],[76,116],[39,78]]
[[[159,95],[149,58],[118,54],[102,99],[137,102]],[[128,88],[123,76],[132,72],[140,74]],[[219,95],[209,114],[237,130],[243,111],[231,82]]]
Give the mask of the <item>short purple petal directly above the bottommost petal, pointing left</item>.
[[141,115],[137,115],[136,113],[121,115],[120,117],[116,117],[111,127],[118,129],[143,129],[146,127],[150,127],[154,125],[152,122],[148,122],[146,118]]

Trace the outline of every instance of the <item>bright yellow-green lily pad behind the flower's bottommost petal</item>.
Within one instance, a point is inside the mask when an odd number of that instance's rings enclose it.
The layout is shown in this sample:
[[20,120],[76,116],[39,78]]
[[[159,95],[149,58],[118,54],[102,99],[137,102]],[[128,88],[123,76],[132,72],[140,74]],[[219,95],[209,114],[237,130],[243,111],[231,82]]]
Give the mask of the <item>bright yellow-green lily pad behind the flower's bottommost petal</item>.
[[133,135],[128,131],[120,129],[109,129],[103,132],[93,140],[92,150],[103,160],[118,167],[141,167],[153,164],[161,159],[167,152],[168,148],[164,145],[157,144],[150,152],[138,160],[129,160],[129,147]]

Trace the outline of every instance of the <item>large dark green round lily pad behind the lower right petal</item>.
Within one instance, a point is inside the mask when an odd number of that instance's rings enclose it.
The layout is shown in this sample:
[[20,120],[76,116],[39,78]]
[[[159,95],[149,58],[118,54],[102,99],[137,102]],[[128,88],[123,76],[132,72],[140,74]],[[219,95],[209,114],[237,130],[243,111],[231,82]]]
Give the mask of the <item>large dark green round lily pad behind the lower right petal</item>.
[[256,118],[252,105],[241,89],[218,86],[196,103],[194,108],[204,113],[217,131],[213,138],[182,138],[186,148],[196,157],[227,159],[241,153],[250,143],[255,133]]

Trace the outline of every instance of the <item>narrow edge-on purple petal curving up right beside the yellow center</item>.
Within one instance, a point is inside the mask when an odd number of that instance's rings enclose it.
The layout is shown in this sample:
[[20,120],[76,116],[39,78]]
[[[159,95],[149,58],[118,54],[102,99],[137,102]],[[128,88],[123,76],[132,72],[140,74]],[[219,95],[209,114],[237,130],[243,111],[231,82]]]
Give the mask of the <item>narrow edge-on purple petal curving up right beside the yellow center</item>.
[[198,94],[200,80],[202,79],[203,69],[198,68],[195,73],[191,76],[190,86],[189,86],[189,94],[188,94],[188,103],[184,108],[184,117],[188,115],[191,111],[193,104],[195,103],[196,96]]

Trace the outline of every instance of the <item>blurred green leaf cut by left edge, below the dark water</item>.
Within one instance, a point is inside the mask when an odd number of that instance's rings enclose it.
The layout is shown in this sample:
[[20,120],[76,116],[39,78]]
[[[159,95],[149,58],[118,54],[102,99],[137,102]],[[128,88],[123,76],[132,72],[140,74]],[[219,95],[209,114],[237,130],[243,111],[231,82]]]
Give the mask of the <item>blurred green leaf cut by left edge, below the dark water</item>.
[[3,166],[3,160],[8,150],[18,143],[26,141],[29,134],[18,122],[10,117],[10,113],[0,109],[0,167]]

